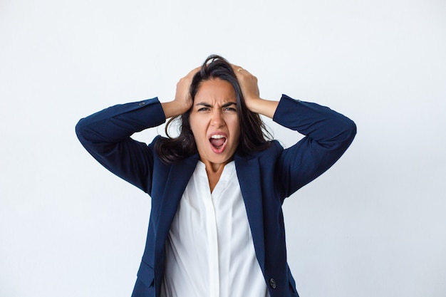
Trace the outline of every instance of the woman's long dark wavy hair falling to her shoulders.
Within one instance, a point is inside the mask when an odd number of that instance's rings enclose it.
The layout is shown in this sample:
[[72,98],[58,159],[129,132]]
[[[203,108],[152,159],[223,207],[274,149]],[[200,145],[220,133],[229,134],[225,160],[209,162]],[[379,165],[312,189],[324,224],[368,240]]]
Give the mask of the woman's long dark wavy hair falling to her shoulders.
[[[221,56],[212,55],[207,57],[201,69],[192,78],[190,84],[190,96],[192,105],[195,95],[205,80],[219,78],[229,82],[235,90],[237,97],[237,116],[240,125],[240,138],[237,150],[243,154],[249,154],[251,151],[261,151],[269,147],[271,133],[266,130],[264,122],[259,114],[251,112],[244,103],[242,90],[240,89],[237,77],[232,70],[231,64]],[[183,160],[190,155],[197,153],[197,145],[190,127],[190,112],[192,107],[186,113],[171,118],[165,127],[167,138],[161,137],[155,143],[155,150],[162,162],[171,164]],[[169,127],[174,121],[180,120],[180,135],[172,138],[169,135]]]

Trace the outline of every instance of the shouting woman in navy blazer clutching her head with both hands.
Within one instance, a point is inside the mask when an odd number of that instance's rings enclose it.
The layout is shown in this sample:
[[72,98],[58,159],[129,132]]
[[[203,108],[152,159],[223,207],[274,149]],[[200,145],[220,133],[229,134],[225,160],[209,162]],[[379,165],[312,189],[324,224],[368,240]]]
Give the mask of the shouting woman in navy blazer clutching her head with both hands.
[[[306,137],[284,150],[259,114]],[[130,138],[178,116],[177,138]],[[253,75],[209,56],[179,81],[175,100],[115,105],[76,132],[98,162],[152,198],[133,297],[284,297],[298,293],[281,204],[341,157],[356,125],[286,95],[261,99]]]

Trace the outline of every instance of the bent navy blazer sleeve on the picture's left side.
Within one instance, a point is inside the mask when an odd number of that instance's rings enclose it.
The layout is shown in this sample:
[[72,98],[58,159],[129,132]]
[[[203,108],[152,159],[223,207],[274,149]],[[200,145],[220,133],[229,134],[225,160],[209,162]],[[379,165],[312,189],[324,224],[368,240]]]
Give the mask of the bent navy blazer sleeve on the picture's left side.
[[76,134],[101,165],[150,194],[152,145],[133,140],[131,135],[162,123],[164,111],[153,98],[115,105],[83,118],[76,125]]

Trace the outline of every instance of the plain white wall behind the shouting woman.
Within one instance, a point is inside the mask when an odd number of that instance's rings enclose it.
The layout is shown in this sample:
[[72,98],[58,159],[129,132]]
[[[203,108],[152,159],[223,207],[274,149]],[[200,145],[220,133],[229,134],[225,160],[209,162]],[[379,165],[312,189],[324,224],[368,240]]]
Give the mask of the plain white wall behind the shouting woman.
[[[172,99],[211,53],[254,73],[264,98],[358,125],[284,204],[301,297],[446,296],[443,0],[1,0],[0,296],[130,296],[150,198],[74,126]],[[284,145],[299,139],[268,123]]]

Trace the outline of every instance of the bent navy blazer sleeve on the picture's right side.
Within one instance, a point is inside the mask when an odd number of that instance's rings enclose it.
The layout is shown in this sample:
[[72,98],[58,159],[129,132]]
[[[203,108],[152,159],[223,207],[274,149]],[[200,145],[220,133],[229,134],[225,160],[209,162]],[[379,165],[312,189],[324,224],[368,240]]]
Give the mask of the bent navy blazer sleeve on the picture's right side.
[[347,150],[356,125],[330,108],[282,95],[273,120],[306,135],[283,150],[276,165],[281,198],[289,197],[328,170]]

